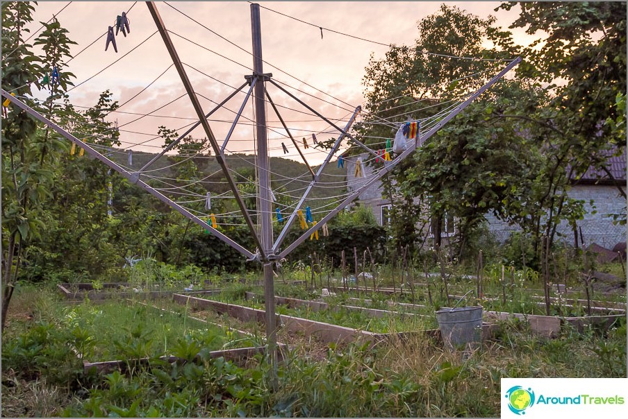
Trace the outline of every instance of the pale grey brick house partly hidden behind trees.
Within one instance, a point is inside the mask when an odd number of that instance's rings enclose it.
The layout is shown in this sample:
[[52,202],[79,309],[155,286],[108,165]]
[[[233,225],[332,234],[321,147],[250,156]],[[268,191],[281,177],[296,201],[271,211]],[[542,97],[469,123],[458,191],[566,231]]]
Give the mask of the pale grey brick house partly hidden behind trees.
[[[373,167],[363,164],[365,178],[355,176],[356,160],[365,161],[369,158],[366,153],[356,156],[345,156],[345,170],[347,171],[347,189],[355,191],[367,182],[372,174]],[[620,194],[618,187],[626,191],[626,155],[610,157],[607,171],[588,170],[579,179],[572,178],[572,187],[568,192],[571,198],[584,200],[586,214],[584,219],[578,221],[579,230],[582,230],[582,239],[585,246],[597,243],[604,248],[612,249],[617,243],[626,241],[626,226],[613,223],[615,216],[623,216],[626,213],[626,199]],[[374,182],[365,189],[355,201],[360,205],[370,207],[377,222],[384,225],[388,222],[388,209],[390,199],[382,196],[381,182]],[[593,200],[593,205],[590,201]],[[623,215],[622,215],[623,214]],[[488,229],[498,241],[505,241],[512,232],[519,231],[516,225],[509,225],[499,221],[492,214],[486,215]],[[455,231],[452,220],[447,219],[443,227],[443,237],[449,237]],[[559,239],[570,244],[574,243],[574,232],[571,225],[561,223],[557,232]],[[579,239],[580,240],[580,239]]]

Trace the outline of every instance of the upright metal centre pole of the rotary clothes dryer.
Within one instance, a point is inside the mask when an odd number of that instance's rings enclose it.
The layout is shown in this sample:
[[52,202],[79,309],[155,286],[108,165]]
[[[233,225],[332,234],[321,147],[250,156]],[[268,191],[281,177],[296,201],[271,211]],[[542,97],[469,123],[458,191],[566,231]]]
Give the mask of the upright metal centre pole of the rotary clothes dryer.
[[255,85],[255,122],[257,132],[257,166],[260,191],[258,222],[261,227],[260,241],[263,247],[264,298],[266,320],[266,345],[271,362],[271,382],[274,390],[278,387],[277,377],[277,336],[274,301],[274,279],[272,274],[272,215],[270,203],[270,173],[268,171],[268,144],[266,139],[266,104],[264,99],[265,75],[262,61],[262,34],[260,6],[251,3],[251,33],[253,37],[253,71],[257,77]]

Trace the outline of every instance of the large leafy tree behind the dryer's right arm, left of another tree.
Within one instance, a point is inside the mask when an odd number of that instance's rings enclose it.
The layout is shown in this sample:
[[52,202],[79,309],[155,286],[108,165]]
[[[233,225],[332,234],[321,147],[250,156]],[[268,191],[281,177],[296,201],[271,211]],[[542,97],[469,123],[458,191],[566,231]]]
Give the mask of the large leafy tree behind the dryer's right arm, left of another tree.
[[[389,121],[403,121],[406,115],[411,119],[435,117],[452,101],[459,101],[486,83],[486,77],[469,75],[484,72],[493,76],[499,66],[503,67],[502,62],[451,56],[509,57],[509,53],[486,49],[482,44],[486,37],[504,35],[492,27],[494,22],[493,17],[480,19],[443,5],[419,23],[420,37],[414,48],[392,46],[386,58],[371,60],[365,76],[367,109],[377,112],[377,117],[367,117],[361,135],[365,139],[390,138],[394,135],[390,128],[369,123],[377,122],[378,117]],[[481,101],[431,137],[413,157],[399,164],[387,193],[394,196],[397,192],[401,198],[398,202],[403,204],[393,203],[393,225],[397,225],[397,232],[404,232],[399,239],[402,247],[407,244],[404,239],[413,239],[410,232],[421,212],[428,212],[436,226],[436,246],[440,246],[438,226],[445,213],[459,220],[462,239],[489,211],[511,217],[518,196],[529,189],[529,172],[537,164],[533,161],[537,156],[529,153],[527,140],[518,135],[517,126],[495,123],[490,115],[499,112],[495,103],[510,106],[520,103],[522,96],[531,96],[525,101],[529,104],[539,100],[538,94],[542,92],[534,86],[502,80],[481,96]],[[430,205],[426,205],[428,202]]]

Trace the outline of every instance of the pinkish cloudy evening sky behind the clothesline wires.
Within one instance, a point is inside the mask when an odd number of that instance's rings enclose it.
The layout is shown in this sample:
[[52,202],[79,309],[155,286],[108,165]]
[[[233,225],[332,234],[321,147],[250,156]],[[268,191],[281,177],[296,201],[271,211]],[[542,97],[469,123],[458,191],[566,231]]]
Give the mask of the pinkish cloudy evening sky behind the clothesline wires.
[[[30,26],[31,31],[37,31],[41,26],[40,21],[48,21],[53,13],[67,4],[57,1],[40,2],[35,7],[35,22]],[[156,4],[181,61],[186,65],[185,69],[192,80],[195,92],[204,96],[201,97],[201,105],[205,112],[209,112],[214,106],[211,101],[222,101],[233,92],[232,87],[239,87],[245,81],[244,76],[251,74],[250,5],[245,1],[174,1]],[[413,44],[418,37],[417,22],[436,12],[440,6],[440,2],[388,1],[301,1],[260,4],[285,15],[311,22],[315,26],[383,44],[397,45]],[[518,10],[495,12],[494,9],[499,6],[499,2],[447,4],[458,6],[480,17],[494,15],[498,24],[504,28],[518,16]],[[131,33],[126,37],[122,36],[122,33],[117,35],[117,53],[113,51],[112,46],[105,51],[104,33],[107,27],[114,25],[116,16],[129,8],[131,8],[129,12]],[[79,106],[94,105],[100,92],[107,89],[112,92],[116,101],[124,103],[119,109],[120,112],[111,115],[111,120],[117,119],[120,126],[123,147],[160,151],[163,142],[151,139],[157,135],[158,126],[177,129],[181,134],[186,129],[182,127],[195,121],[195,112],[187,96],[167,105],[185,94],[185,90],[176,70],[172,67],[172,60],[160,35],[155,33],[156,26],[145,3],[73,1],[58,14],[58,20],[69,30],[69,37],[77,42],[77,45],[72,46],[74,55],[96,41],[67,66],[68,71],[76,75],[74,83],[77,87],[69,92],[72,103]],[[321,39],[319,28],[265,9],[261,10],[261,28],[263,58],[273,66],[265,65],[265,72],[271,72],[276,81],[290,86],[292,92],[326,117],[338,120],[340,126],[345,125],[347,116],[354,107],[363,103],[362,79],[370,56],[383,58],[388,50],[387,46],[356,40],[330,31],[323,31]],[[515,30],[514,33],[515,41],[521,44],[527,44],[533,39],[521,30]],[[135,46],[138,46],[137,49],[131,51]],[[124,56],[126,53],[129,55]],[[103,69],[105,70],[97,74]],[[160,76],[162,73],[163,76]],[[94,76],[95,74],[97,75]],[[150,87],[129,101],[151,82]],[[310,143],[311,132],[318,132],[318,139],[336,137],[337,134],[329,130],[327,123],[317,121],[316,117],[309,114],[310,112],[288,99],[286,95],[280,94],[276,88],[270,91],[276,103],[291,109],[281,108],[281,113],[283,118],[289,121],[288,126],[291,131],[293,130],[295,137],[301,139],[307,136]],[[240,108],[244,97],[245,94],[236,95],[226,104],[228,110],[219,110],[212,116],[210,126],[220,143],[233,121],[233,112]],[[129,102],[126,103],[127,101]],[[272,110],[269,108],[268,111],[269,126],[279,127]],[[142,114],[151,112],[151,116],[138,119]],[[230,151],[253,151],[254,130],[252,122],[247,118],[252,119],[250,102],[229,142],[227,148]],[[282,135],[285,135],[285,132],[281,128],[270,130],[271,155],[284,156],[281,142],[290,146],[289,140],[281,138]],[[201,128],[193,131],[192,136],[205,137]],[[136,145],[139,143],[143,144]],[[312,164],[319,163],[324,157],[313,148],[309,148],[306,154]],[[294,148],[290,147],[290,153],[285,157],[294,158],[295,155]]]

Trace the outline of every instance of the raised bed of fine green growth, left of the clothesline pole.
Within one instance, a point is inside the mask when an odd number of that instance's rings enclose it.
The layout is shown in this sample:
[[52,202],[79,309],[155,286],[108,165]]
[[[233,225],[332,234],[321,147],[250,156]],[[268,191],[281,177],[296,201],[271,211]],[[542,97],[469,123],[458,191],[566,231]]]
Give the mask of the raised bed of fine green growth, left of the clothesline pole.
[[[56,317],[60,318],[61,327],[75,330],[74,334],[80,337],[72,349],[83,361],[85,373],[126,370],[149,365],[155,359],[183,362],[184,359],[172,355],[159,356],[170,352],[178,339],[209,349],[208,357],[224,357],[240,365],[265,351],[264,347],[255,345],[254,336],[248,332],[141,302],[108,300],[97,306],[73,305],[60,309]],[[279,343],[279,346],[283,356],[285,345]],[[90,361],[94,359],[105,360]]]

